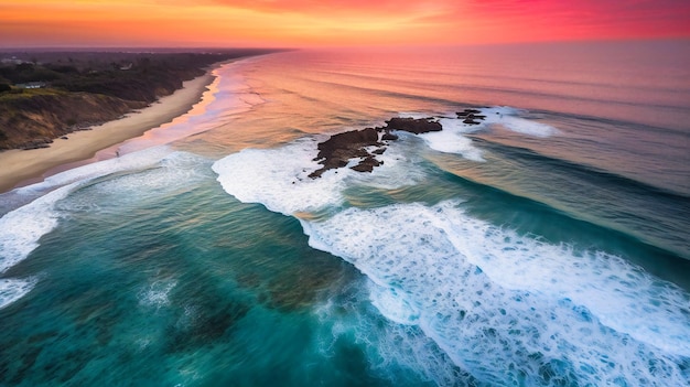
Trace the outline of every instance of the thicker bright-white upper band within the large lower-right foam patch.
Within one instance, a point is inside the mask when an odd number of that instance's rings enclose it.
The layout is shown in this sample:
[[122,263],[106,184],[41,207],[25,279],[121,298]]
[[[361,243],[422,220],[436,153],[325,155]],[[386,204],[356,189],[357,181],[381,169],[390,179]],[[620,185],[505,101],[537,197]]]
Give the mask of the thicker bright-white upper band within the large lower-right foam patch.
[[[449,218],[443,229],[453,245],[490,279],[508,289],[569,299],[593,312],[602,324],[665,351],[690,356],[690,295],[617,256],[602,251],[573,255],[470,217]],[[468,240],[466,236],[473,236]]]

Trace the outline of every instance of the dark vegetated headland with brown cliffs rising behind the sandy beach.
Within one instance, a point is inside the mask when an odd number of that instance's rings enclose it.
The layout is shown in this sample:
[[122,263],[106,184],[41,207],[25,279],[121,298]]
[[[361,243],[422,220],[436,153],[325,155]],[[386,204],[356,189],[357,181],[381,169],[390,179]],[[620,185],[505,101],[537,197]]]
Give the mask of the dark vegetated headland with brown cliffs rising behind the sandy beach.
[[0,53],[0,150],[45,147],[145,107],[214,63],[269,52]]

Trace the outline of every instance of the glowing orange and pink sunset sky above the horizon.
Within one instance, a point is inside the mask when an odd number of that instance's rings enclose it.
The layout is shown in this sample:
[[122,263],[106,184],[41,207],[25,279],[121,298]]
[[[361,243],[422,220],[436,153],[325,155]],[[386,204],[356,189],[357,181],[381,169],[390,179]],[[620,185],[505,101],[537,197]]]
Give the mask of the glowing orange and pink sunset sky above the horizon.
[[0,47],[657,37],[690,37],[690,0],[0,0]]

